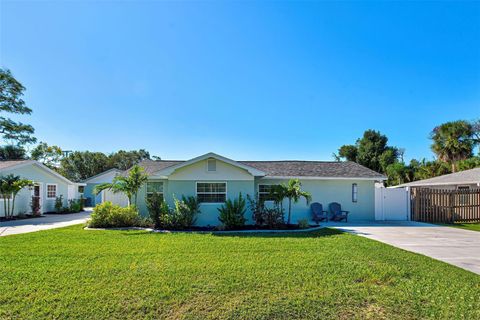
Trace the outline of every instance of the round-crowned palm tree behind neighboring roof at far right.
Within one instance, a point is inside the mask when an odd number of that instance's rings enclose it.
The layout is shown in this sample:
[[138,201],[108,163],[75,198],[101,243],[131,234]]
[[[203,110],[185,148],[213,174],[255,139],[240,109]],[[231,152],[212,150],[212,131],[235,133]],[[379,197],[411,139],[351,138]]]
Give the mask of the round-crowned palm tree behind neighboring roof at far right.
[[465,120],[446,122],[431,133],[432,151],[440,161],[450,164],[452,172],[457,171],[456,163],[472,156],[476,145],[472,123]]

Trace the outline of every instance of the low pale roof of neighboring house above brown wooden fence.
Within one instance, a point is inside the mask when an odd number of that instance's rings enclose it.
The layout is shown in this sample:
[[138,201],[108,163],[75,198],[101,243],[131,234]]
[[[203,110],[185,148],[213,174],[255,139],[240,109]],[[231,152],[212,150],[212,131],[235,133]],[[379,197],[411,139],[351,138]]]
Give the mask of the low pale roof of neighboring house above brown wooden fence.
[[430,179],[404,183],[394,188],[415,187],[442,190],[471,190],[480,188],[480,168],[445,174]]

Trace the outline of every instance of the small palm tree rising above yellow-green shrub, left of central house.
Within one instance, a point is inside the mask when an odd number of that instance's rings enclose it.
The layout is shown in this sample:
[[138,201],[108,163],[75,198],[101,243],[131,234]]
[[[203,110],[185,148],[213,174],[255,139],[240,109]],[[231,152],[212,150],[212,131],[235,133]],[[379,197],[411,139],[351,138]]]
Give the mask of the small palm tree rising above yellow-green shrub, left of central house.
[[134,199],[134,204],[137,205],[138,190],[147,180],[148,175],[145,170],[135,165],[130,169],[127,176],[116,176],[112,183],[99,184],[93,189],[93,193],[97,195],[103,190],[111,190],[113,193],[121,192],[127,196],[128,205],[132,203],[132,199]]

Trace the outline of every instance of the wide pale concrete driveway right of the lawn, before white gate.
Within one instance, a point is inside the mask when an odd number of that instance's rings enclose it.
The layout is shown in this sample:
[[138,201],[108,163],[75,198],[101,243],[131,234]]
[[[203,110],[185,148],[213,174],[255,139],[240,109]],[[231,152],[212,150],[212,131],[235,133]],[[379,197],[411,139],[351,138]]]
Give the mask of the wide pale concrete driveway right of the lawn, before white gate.
[[414,221],[324,225],[480,274],[480,232]]

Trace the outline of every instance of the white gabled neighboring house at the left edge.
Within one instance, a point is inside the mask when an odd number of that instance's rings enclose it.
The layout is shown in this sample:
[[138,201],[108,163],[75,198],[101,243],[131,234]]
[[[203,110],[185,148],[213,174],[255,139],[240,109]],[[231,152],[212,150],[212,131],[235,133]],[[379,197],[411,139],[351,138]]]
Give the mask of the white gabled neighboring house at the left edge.
[[[68,205],[68,200],[82,196],[84,184],[74,183],[35,160],[0,161],[0,176],[9,174],[34,182],[33,187],[24,188],[16,196],[14,215],[30,214],[32,201],[38,201],[40,213],[45,213],[55,211],[55,199],[59,196],[63,197],[64,206]],[[0,216],[5,216],[3,203],[0,204]]]

